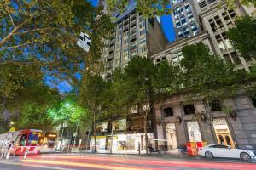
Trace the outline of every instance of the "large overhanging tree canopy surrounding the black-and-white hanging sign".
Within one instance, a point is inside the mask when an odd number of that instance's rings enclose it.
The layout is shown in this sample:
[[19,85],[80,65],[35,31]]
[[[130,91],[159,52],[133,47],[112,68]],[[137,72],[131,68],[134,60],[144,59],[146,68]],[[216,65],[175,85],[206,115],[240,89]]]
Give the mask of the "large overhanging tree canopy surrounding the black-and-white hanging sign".
[[[3,0],[0,22],[1,104],[43,75],[72,83],[85,62],[97,61],[102,38],[112,29],[102,7],[84,0]],[[76,45],[80,31],[92,38],[90,53]]]

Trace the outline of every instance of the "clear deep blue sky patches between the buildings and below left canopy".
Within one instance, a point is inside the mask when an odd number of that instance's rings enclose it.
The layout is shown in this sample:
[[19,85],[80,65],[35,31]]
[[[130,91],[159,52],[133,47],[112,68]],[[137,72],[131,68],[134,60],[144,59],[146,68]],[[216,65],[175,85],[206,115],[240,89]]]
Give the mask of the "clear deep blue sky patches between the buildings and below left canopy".
[[[92,3],[94,6],[98,3],[98,0],[87,0],[90,3]],[[166,34],[166,37],[169,42],[173,42],[175,40],[175,32],[173,30],[172,26],[172,18],[171,15],[165,15],[160,17],[160,21],[163,27],[163,30]],[[46,77],[45,82],[48,84],[50,87],[54,88],[55,85],[51,83],[51,81],[54,81],[54,77]],[[56,87],[60,90],[61,93],[64,92],[69,92],[72,90],[72,87],[66,82],[58,82]]]

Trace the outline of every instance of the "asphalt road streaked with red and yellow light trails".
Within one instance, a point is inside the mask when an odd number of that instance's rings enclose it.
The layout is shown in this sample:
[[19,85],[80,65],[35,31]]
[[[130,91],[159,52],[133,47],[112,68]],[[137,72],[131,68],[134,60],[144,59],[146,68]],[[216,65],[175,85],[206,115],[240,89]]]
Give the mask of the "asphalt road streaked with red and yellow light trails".
[[256,170],[256,162],[229,159],[190,158],[177,156],[67,155],[49,154],[0,160],[1,170]]

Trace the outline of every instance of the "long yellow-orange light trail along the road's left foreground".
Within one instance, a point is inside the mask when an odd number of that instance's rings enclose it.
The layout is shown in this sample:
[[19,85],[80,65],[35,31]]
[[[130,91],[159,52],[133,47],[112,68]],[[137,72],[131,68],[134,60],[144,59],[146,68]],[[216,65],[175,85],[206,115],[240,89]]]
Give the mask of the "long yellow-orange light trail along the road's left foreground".
[[[66,166],[76,166],[76,167],[91,167],[91,168],[99,168],[99,169],[110,169],[110,170],[137,170],[137,168],[131,167],[114,167],[108,165],[97,165],[93,163],[79,163],[79,162],[67,162],[67,161],[46,161],[46,160],[22,160],[22,162],[27,163],[42,163],[42,164],[55,164],[55,165],[66,165]],[[143,167],[142,167],[143,168]],[[147,168],[151,169],[151,168]]]

